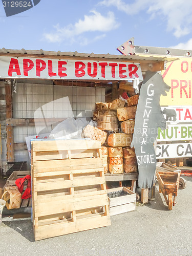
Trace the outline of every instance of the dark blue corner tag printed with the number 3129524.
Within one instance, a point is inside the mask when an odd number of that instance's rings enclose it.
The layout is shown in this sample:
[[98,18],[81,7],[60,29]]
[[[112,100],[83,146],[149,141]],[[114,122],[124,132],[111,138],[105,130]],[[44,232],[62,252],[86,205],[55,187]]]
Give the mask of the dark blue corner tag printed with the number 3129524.
[[33,6],[37,5],[40,0],[24,0],[24,1],[15,1],[15,0],[2,0],[3,7],[5,9],[6,16],[12,16],[21,12],[25,12]]

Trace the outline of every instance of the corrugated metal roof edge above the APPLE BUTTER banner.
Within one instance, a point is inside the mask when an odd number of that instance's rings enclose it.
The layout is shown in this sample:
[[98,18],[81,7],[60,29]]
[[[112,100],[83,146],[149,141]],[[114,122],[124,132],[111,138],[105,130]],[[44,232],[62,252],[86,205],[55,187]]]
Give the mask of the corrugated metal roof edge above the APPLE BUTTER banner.
[[32,54],[32,55],[51,55],[51,56],[74,56],[74,57],[92,57],[92,58],[111,58],[111,59],[129,59],[129,60],[154,60],[154,61],[172,61],[174,57],[160,57],[160,56],[143,56],[143,55],[116,55],[116,54],[96,54],[96,53],[79,53],[79,52],[53,52],[40,50],[13,50],[13,49],[0,49],[0,53],[10,54]]

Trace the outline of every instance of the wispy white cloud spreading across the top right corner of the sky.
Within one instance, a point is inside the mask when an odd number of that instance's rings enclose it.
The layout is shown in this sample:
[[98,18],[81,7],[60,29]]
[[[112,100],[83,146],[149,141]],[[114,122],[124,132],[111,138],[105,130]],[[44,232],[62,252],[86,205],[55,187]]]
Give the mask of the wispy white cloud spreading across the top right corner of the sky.
[[185,0],[135,0],[132,4],[126,4],[123,0],[103,0],[99,5],[115,6],[119,11],[129,15],[147,11],[151,18],[157,17],[166,20],[166,29],[176,37],[190,33],[192,29],[192,1]]

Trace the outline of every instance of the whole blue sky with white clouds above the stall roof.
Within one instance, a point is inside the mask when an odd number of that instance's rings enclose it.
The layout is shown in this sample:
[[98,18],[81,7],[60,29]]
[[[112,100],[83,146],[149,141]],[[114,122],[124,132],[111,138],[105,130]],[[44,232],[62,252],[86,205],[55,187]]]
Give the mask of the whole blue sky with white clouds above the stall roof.
[[41,0],[6,17],[0,2],[0,48],[119,54],[137,46],[192,49],[192,1]]

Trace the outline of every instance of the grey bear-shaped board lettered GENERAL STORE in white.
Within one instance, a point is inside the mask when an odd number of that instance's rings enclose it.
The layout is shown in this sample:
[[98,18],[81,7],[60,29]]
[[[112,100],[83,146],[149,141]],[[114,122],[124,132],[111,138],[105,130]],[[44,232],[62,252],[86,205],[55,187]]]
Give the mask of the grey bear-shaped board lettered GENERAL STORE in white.
[[156,154],[154,142],[158,127],[166,128],[166,121],[160,108],[160,96],[166,96],[170,87],[159,73],[147,71],[140,89],[131,146],[135,147],[138,163],[138,186],[151,188],[155,182]]

